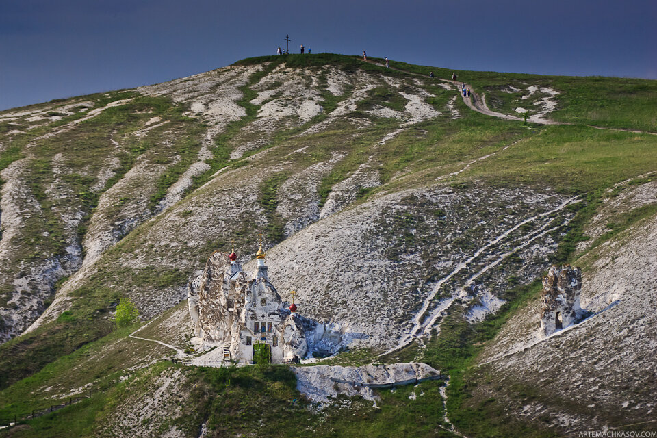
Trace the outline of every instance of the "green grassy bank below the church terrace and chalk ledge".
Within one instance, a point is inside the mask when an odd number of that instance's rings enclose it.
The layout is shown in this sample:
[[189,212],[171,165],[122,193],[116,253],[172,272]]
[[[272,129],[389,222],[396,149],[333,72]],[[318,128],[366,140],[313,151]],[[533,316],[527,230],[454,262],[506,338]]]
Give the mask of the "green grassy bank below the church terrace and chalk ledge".
[[[188,395],[179,397],[181,413],[159,415],[162,424],[153,424],[159,433],[176,426],[186,436],[198,432],[207,421],[213,436],[255,435],[258,437],[389,437],[407,434],[413,437],[453,437],[443,426],[441,381],[401,386],[394,391],[381,389],[378,407],[353,398],[347,408],[339,405],[321,412],[296,390],[296,378],[289,368],[270,366],[227,368],[177,368],[157,363],[136,372],[123,383],[99,391],[90,399],[44,417],[25,422],[12,430],[13,437],[87,437],[107,435],[107,427],[116,422],[116,409],[131,400],[138,410],[141,394],[149,394],[159,375],[179,369],[188,379]],[[415,393],[415,400],[410,400]],[[150,421],[150,419],[149,419]],[[146,423],[147,424],[147,423]],[[114,426],[116,427],[116,426]],[[127,431],[114,428],[122,435]],[[153,430],[155,433],[155,430]],[[0,432],[0,435],[3,435]],[[193,435],[196,436],[196,435]]]

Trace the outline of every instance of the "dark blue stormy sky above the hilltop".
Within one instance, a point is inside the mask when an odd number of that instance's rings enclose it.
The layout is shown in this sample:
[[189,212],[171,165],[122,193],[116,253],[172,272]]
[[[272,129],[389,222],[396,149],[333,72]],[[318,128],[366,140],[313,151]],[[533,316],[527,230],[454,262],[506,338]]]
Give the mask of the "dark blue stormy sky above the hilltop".
[[[273,54],[657,79],[656,0],[0,0],[0,110]],[[292,50],[291,50],[292,51]]]

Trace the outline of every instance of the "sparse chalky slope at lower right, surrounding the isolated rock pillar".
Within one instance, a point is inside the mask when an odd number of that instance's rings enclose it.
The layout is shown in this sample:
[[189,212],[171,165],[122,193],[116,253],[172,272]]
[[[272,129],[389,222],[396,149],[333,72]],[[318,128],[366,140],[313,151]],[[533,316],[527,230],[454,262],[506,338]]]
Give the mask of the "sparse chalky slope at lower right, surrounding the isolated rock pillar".
[[[656,187],[630,185],[621,196],[608,198],[600,209],[605,216],[596,218],[587,234],[618,214],[608,204],[649,189],[657,201]],[[548,302],[558,309],[567,301],[575,309],[580,291],[589,317],[543,337],[538,315],[548,297],[532,300],[486,346],[476,396],[501,400],[516,417],[540,415],[564,433],[654,420],[657,362],[647,352],[657,347],[657,218],[585,250],[576,263],[584,270],[581,280],[576,268],[550,269]],[[575,281],[578,286],[571,287]],[[532,397],[511,389],[519,387],[531,388]]]

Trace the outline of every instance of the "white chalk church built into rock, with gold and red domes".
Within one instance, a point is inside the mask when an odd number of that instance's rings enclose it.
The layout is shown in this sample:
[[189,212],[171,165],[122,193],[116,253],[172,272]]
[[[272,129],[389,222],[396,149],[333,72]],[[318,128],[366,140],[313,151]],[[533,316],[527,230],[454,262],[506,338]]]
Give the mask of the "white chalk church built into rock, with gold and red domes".
[[298,361],[308,351],[305,332],[311,327],[296,314],[294,292],[288,307],[270,282],[262,242],[256,258],[257,272],[246,272],[234,249],[229,255],[216,251],[190,283],[192,344],[222,348],[224,361],[253,363],[267,355],[272,363]]

